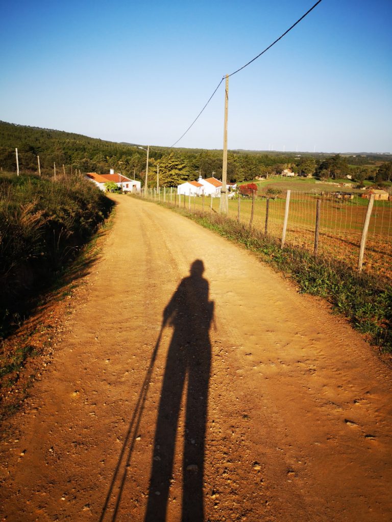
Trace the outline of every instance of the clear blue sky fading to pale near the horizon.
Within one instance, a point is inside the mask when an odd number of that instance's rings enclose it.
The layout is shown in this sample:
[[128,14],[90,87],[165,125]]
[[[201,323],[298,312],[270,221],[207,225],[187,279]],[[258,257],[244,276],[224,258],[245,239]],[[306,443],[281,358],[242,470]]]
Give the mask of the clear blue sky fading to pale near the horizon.
[[[2,1],[0,120],[170,146],[315,0]],[[322,0],[230,78],[231,149],[392,152],[391,0]],[[222,148],[224,84],[178,147]]]

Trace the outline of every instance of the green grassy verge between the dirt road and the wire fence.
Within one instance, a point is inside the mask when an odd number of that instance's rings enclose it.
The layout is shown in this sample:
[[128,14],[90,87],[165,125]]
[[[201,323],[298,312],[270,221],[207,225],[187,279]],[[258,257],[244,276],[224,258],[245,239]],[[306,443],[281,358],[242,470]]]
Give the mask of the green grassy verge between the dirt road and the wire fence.
[[203,215],[160,204],[243,245],[264,263],[293,279],[299,292],[326,299],[368,341],[382,352],[392,353],[392,287],[386,279],[359,274],[339,260],[315,258],[303,248],[287,245],[282,250],[275,238],[217,213]]

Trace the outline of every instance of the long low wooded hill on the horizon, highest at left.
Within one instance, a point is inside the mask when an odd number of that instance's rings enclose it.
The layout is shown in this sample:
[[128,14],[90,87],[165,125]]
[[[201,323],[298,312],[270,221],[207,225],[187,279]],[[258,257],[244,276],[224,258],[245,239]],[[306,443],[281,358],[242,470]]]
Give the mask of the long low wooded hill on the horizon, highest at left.
[[[124,175],[143,179],[146,153],[136,144],[116,143],[113,141],[90,138],[82,134],[56,131],[39,127],[29,127],[0,121],[0,168],[4,171],[16,170],[15,148],[18,148],[19,168],[21,171],[36,172],[37,156],[40,157],[43,173],[53,173],[53,163],[61,171],[62,165],[67,173],[109,172],[115,169]],[[189,178],[222,176],[222,150],[190,149],[153,146],[149,149],[151,176],[153,183],[156,172],[155,161],[172,155],[186,165]],[[284,168],[302,170],[307,161],[316,161],[320,165],[332,154],[309,152],[280,152],[258,150],[230,150],[228,152],[227,175],[229,181],[247,181],[257,176],[281,172]],[[391,156],[380,154],[344,155],[348,164],[379,165],[390,161]],[[314,159],[314,160],[313,160]]]

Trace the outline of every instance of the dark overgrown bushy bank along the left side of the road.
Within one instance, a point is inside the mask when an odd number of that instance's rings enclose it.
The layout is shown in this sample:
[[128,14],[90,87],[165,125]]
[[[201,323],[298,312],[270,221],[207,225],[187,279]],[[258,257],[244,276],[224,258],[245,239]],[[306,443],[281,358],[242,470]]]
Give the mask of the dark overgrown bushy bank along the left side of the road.
[[111,207],[80,177],[0,175],[0,335],[4,318],[75,256]]

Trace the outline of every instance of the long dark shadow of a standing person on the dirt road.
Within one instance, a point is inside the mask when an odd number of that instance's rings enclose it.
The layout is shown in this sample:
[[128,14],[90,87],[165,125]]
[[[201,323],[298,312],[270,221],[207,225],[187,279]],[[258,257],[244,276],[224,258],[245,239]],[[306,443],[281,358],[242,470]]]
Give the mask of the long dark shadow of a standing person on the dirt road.
[[165,308],[163,324],[174,327],[166,361],[155,431],[145,522],[166,520],[182,394],[186,388],[182,454],[182,522],[201,522],[205,425],[211,368],[209,330],[214,303],[200,259]]

